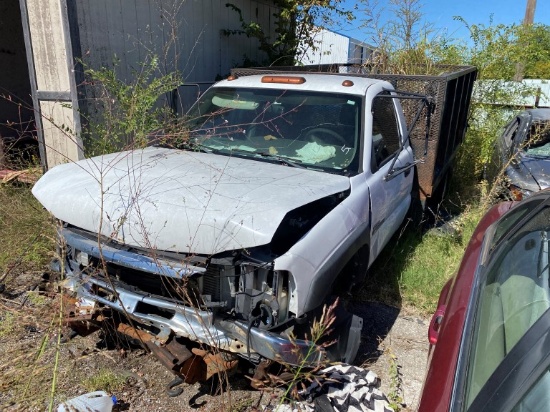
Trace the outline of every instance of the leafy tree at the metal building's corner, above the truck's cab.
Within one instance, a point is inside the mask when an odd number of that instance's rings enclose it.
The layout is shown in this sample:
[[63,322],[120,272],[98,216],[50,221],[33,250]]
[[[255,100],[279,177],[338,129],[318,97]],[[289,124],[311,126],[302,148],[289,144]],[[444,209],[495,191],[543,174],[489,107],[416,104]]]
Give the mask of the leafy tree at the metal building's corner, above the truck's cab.
[[[266,53],[266,66],[293,66],[308,49],[315,49],[315,33],[335,24],[336,18],[353,20],[353,13],[343,8],[343,0],[274,0],[275,38],[269,28],[256,21],[247,21],[242,10],[233,3],[226,7],[239,15],[242,30],[225,30],[226,35],[245,34],[258,39],[259,49]],[[245,60],[248,58],[245,57]]]

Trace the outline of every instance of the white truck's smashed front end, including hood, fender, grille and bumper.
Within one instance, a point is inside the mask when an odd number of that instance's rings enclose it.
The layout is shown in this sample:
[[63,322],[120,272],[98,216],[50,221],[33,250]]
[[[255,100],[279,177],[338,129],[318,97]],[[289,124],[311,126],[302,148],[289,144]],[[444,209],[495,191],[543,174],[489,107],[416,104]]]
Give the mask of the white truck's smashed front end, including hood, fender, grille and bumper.
[[[346,178],[315,183],[308,171],[273,175],[281,168],[268,165],[261,176],[233,164],[241,187],[248,185],[239,195],[226,190],[235,177],[227,164],[216,187],[201,183],[198,163],[210,162],[209,179],[221,167],[209,154],[149,148],[120,156],[58,166],[33,189],[60,221],[56,265],[71,296],[69,325],[83,331],[108,324],[188,383],[234,369],[239,359],[255,365],[259,385],[272,363],[316,366],[355,357],[361,319],[340,305],[327,319],[332,284],[318,295],[324,280],[303,252],[312,248],[311,230],[330,225],[323,222],[343,207]],[[177,174],[167,172],[171,162],[180,165]],[[69,187],[68,176],[79,183]],[[284,185],[286,195],[269,194],[266,179],[293,183]],[[310,190],[299,195],[304,185]],[[315,336],[323,313],[326,333]]]

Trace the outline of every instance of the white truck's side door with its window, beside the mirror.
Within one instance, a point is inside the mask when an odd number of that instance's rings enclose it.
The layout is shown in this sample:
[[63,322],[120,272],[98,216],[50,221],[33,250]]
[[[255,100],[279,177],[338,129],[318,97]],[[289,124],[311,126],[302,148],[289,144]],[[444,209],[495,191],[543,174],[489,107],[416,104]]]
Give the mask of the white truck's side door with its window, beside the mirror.
[[403,141],[402,130],[405,128],[400,126],[404,123],[400,106],[396,105],[396,99],[383,96],[389,96],[389,93],[384,91],[373,99],[365,122],[365,136],[369,136],[369,127],[372,132],[371,150],[365,153],[370,157],[370,161],[365,162],[370,163],[365,173],[371,193],[371,261],[405,218],[411,202],[414,176],[411,168],[387,178],[395,156],[398,158],[393,167],[397,169],[412,164],[413,154],[408,141]]

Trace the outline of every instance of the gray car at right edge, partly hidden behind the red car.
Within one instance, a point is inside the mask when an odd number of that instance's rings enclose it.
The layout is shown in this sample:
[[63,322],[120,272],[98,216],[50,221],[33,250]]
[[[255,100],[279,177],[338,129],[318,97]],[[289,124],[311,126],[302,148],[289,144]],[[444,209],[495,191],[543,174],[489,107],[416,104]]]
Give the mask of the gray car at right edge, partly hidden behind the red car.
[[504,168],[504,197],[521,200],[550,187],[550,108],[519,113],[504,128],[495,150]]

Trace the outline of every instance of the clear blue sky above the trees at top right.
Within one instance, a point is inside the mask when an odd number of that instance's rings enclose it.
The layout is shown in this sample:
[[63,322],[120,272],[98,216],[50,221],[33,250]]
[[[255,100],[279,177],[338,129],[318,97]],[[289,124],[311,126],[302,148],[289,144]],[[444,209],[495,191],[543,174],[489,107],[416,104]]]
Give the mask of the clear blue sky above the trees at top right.
[[[387,1],[379,0],[380,5]],[[345,0],[346,8],[352,9],[357,3]],[[467,40],[468,31],[460,21],[453,16],[461,16],[468,24],[490,24],[491,15],[494,24],[521,23],[525,15],[527,0],[422,0],[422,12],[426,22],[432,23],[437,31],[446,30],[447,34],[456,39]],[[359,6],[360,7],[360,6]],[[358,26],[364,16],[355,13],[353,26]],[[550,25],[550,4],[548,0],[538,0],[535,9],[535,22]],[[370,43],[364,30],[349,28],[336,30],[346,36]]]

